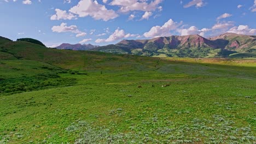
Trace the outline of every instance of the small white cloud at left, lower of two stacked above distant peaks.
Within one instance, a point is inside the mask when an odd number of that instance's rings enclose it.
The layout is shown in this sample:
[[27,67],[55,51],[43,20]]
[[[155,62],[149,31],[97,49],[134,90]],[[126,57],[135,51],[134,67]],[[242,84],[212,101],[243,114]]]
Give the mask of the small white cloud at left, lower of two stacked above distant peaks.
[[51,28],[51,30],[53,32],[57,32],[57,33],[63,33],[63,32],[71,32],[71,33],[75,33],[77,35],[75,35],[75,37],[83,37],[86,35],[86,33],[84,32],[80,32],[77,28],[77,26],[75,25],[71,25],[71,26],[67,26],[67,23],[61,23],[60,26],[53,26]]

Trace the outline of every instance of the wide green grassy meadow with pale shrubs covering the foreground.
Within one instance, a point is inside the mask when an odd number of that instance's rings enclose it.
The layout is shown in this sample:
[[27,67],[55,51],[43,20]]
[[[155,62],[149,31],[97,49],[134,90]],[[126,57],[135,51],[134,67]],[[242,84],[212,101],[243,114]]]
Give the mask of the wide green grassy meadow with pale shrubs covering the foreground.
[[0,53],[0,143],[256,142],[256,60],[25,43]]

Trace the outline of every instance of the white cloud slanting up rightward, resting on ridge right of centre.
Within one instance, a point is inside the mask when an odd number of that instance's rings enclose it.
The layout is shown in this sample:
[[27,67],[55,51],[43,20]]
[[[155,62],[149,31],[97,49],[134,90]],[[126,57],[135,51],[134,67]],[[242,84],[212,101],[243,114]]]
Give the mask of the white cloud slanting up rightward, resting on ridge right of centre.
[[178,28],[182,22],[174,22],[172,19],[168,20],[163,26],[154,26],[149,32],[144,33],[146,38],[162,37],[171,35],[170,31]]

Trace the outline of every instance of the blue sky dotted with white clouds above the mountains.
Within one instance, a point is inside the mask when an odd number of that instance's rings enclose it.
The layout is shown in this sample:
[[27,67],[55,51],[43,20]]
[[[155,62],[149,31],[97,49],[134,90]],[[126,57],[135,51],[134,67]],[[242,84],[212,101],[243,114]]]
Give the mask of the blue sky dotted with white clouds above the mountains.
[[256,34],[256,0],[0,0],[0,35],[47,46]]

